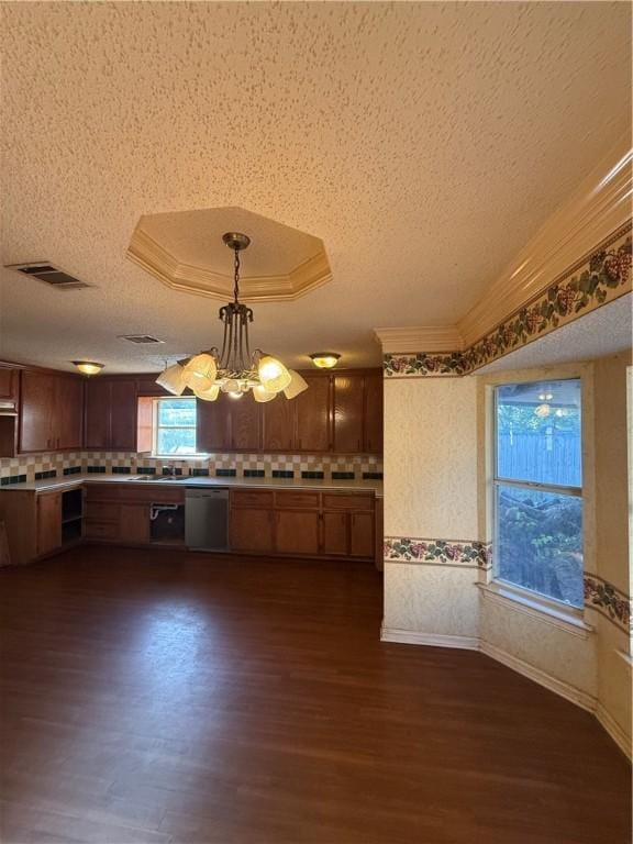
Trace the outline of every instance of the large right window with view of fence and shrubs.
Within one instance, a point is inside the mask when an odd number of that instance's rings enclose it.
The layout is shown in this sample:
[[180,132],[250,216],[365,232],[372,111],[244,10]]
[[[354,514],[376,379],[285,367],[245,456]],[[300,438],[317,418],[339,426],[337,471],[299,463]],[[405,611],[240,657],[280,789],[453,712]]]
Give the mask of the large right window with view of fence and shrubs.
[[580,380],[507,384],[495,404],[495,576],[580,608]]

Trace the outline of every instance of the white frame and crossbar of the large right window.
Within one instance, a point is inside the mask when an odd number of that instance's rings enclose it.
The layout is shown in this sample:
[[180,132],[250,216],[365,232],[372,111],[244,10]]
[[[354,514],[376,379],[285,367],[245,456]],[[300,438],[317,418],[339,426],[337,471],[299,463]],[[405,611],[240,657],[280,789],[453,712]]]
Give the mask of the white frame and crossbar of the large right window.
[[[511,478],[501,478],[498,475],[499,469],[499,436],[498,436],[498,397],[499,397],[499,390],[502,387],[508,387],[511,385],[525,385],[525,384],[540,384],[542,381],[578,381],[580,387],[580,466],[581,466],[581,481],[582,486],[580,487],[574,487],[568,485],[556,485],[556,484],[546,484],[542,481],[533,481],[533,480],[513,480]],[[528,602],[531,602],[535,606],[541,604],[541,609],[547,613],[551,613],[554,611],[555,613],[568,613],[569,615],[573,615],[577,619],[582,619],[585,615],[584,607],[575,607],[574,604],[566,603],[565,601],[558,600],[557,598],[554,598],[549,595],[543,595],[542,592],[537,592],[533,589],[530,589],[526,586],[522,586],[521,584],[513,584],[511,580],[506,580],[503,577],[499,577],[498,575],[498,564],[499,564],[499,493],[498,489],[499,487],[513,487],[515,489],[532,489],[540,492],[551,492],[554,495],[562,495],[562,496],[568,496],[570,498],[579,498],[580,499],[580,506],[581,506],[581,518],[582,518],[582,530],[581,530],[581,544],[582,544],[582,574],[586,570],[587,559],[586,559],[586,551],[587,551],[587,536],[586,536],[586,480],[585,480],[585,436],[586,436],[586,423],[585,423],[585,414],[586,414],[586,407],[585,407],[585,379],[580,374],[577,375],[564,375],[564,376],[556,376],[555,374],[547,374],[547,375],[541,375],[541,376],[534,376],[532,378],[520,378],[520,379],[512,379],[509,378],[508,380],[502,381],[496,381],[495,384],[490,385],[492,387],[492,425],[491,425],[491,434],[492,434],[492,448],[491,448],[491,459],[492,459],[492,466],[491,466],[491,521],[492,521],[492,548],[493,548],[493,555],[492,555],[492,567],[490,571],[490,582],[493,586],[497,586],[498,588],[504,590],[507,592],[507,597],[511,598],[512,592],[514,592],[519,598],[526,600]],[[496,553],[495,553],[496,549]]]

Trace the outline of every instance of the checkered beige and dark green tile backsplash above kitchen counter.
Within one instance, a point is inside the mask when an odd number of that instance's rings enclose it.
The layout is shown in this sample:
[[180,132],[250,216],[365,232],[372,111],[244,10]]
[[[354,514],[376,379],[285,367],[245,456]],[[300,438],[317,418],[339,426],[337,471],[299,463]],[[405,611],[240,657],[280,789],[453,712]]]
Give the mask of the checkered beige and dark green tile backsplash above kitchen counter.
[[123,452],[51,453],[0,459],[0,485],[77,471],[120,475],[173,471],[211,477],[323,477],[325,480],[343,475],[353,479],[378,479],[382,476],[382,459],[373,454],[211,454],[206,458],[167,459]]

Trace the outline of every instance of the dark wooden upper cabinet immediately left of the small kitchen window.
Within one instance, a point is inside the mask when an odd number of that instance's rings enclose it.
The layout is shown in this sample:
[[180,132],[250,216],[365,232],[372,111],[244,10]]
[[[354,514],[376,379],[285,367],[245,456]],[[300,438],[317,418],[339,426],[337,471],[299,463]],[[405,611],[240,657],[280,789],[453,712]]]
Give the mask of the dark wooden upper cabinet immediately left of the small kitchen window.
[[86,448],[135,452],[136,403],[134,379],[89,380],[86,385]]

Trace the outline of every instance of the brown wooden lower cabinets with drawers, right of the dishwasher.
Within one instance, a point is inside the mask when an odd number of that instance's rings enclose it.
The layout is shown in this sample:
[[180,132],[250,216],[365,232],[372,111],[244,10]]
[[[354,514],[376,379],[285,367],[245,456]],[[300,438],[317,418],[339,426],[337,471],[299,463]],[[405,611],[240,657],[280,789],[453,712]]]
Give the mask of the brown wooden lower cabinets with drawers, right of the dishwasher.
[[230,513],[233,552],[374,558],[370,493],[234,489]]

